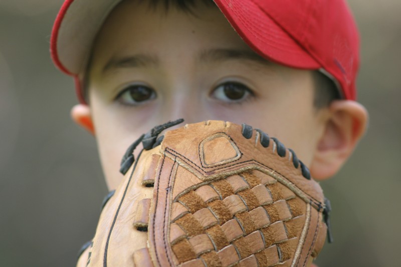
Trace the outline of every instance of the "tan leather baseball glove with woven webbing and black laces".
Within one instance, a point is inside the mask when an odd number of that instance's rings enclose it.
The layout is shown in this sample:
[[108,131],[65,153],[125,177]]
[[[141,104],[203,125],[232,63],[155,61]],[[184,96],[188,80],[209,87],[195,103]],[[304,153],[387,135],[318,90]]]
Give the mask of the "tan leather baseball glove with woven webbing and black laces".
[[124,180],[78,265],[309,266],[330,208],[294,151],[223,121],[158,137],[181,122],[157,126],[128,148]]

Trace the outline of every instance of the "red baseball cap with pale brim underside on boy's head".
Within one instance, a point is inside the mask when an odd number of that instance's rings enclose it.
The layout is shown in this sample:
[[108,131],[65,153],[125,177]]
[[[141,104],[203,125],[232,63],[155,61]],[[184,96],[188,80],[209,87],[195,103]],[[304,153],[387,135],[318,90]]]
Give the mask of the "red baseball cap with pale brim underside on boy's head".
[[[122,0],[66,0],[51,37],[55,65],[76,81],[104,20]],[[299,69],[320,70],[355,100],[359,36],[345,0],[215,0],[241,38],[258,54]]]

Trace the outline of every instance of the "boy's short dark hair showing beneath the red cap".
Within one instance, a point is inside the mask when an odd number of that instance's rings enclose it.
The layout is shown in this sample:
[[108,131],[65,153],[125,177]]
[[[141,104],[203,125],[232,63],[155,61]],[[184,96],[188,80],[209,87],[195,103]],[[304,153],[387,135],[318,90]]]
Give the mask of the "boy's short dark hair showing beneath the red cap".
[[[196,7],[197,3],[202,3],[208,6],[216,5],[213,0],[139,0],[140,2],[148,2],[150,8],[156,8],[159,5],[163,5],[167,12],[169,8],[174,7],[180,11],[192,13],[192,9]],[[83,90],[84,97],[87,98],[88,88],[88,70],[92,61],[92,55],[89,58],[86,72],[83,79]],[[312,79],[315,87],[315,96],[313,105],[316,109],[328,107],[333,100],[340,99],[340,93],[335,83],[320,71],[312,71]]]

